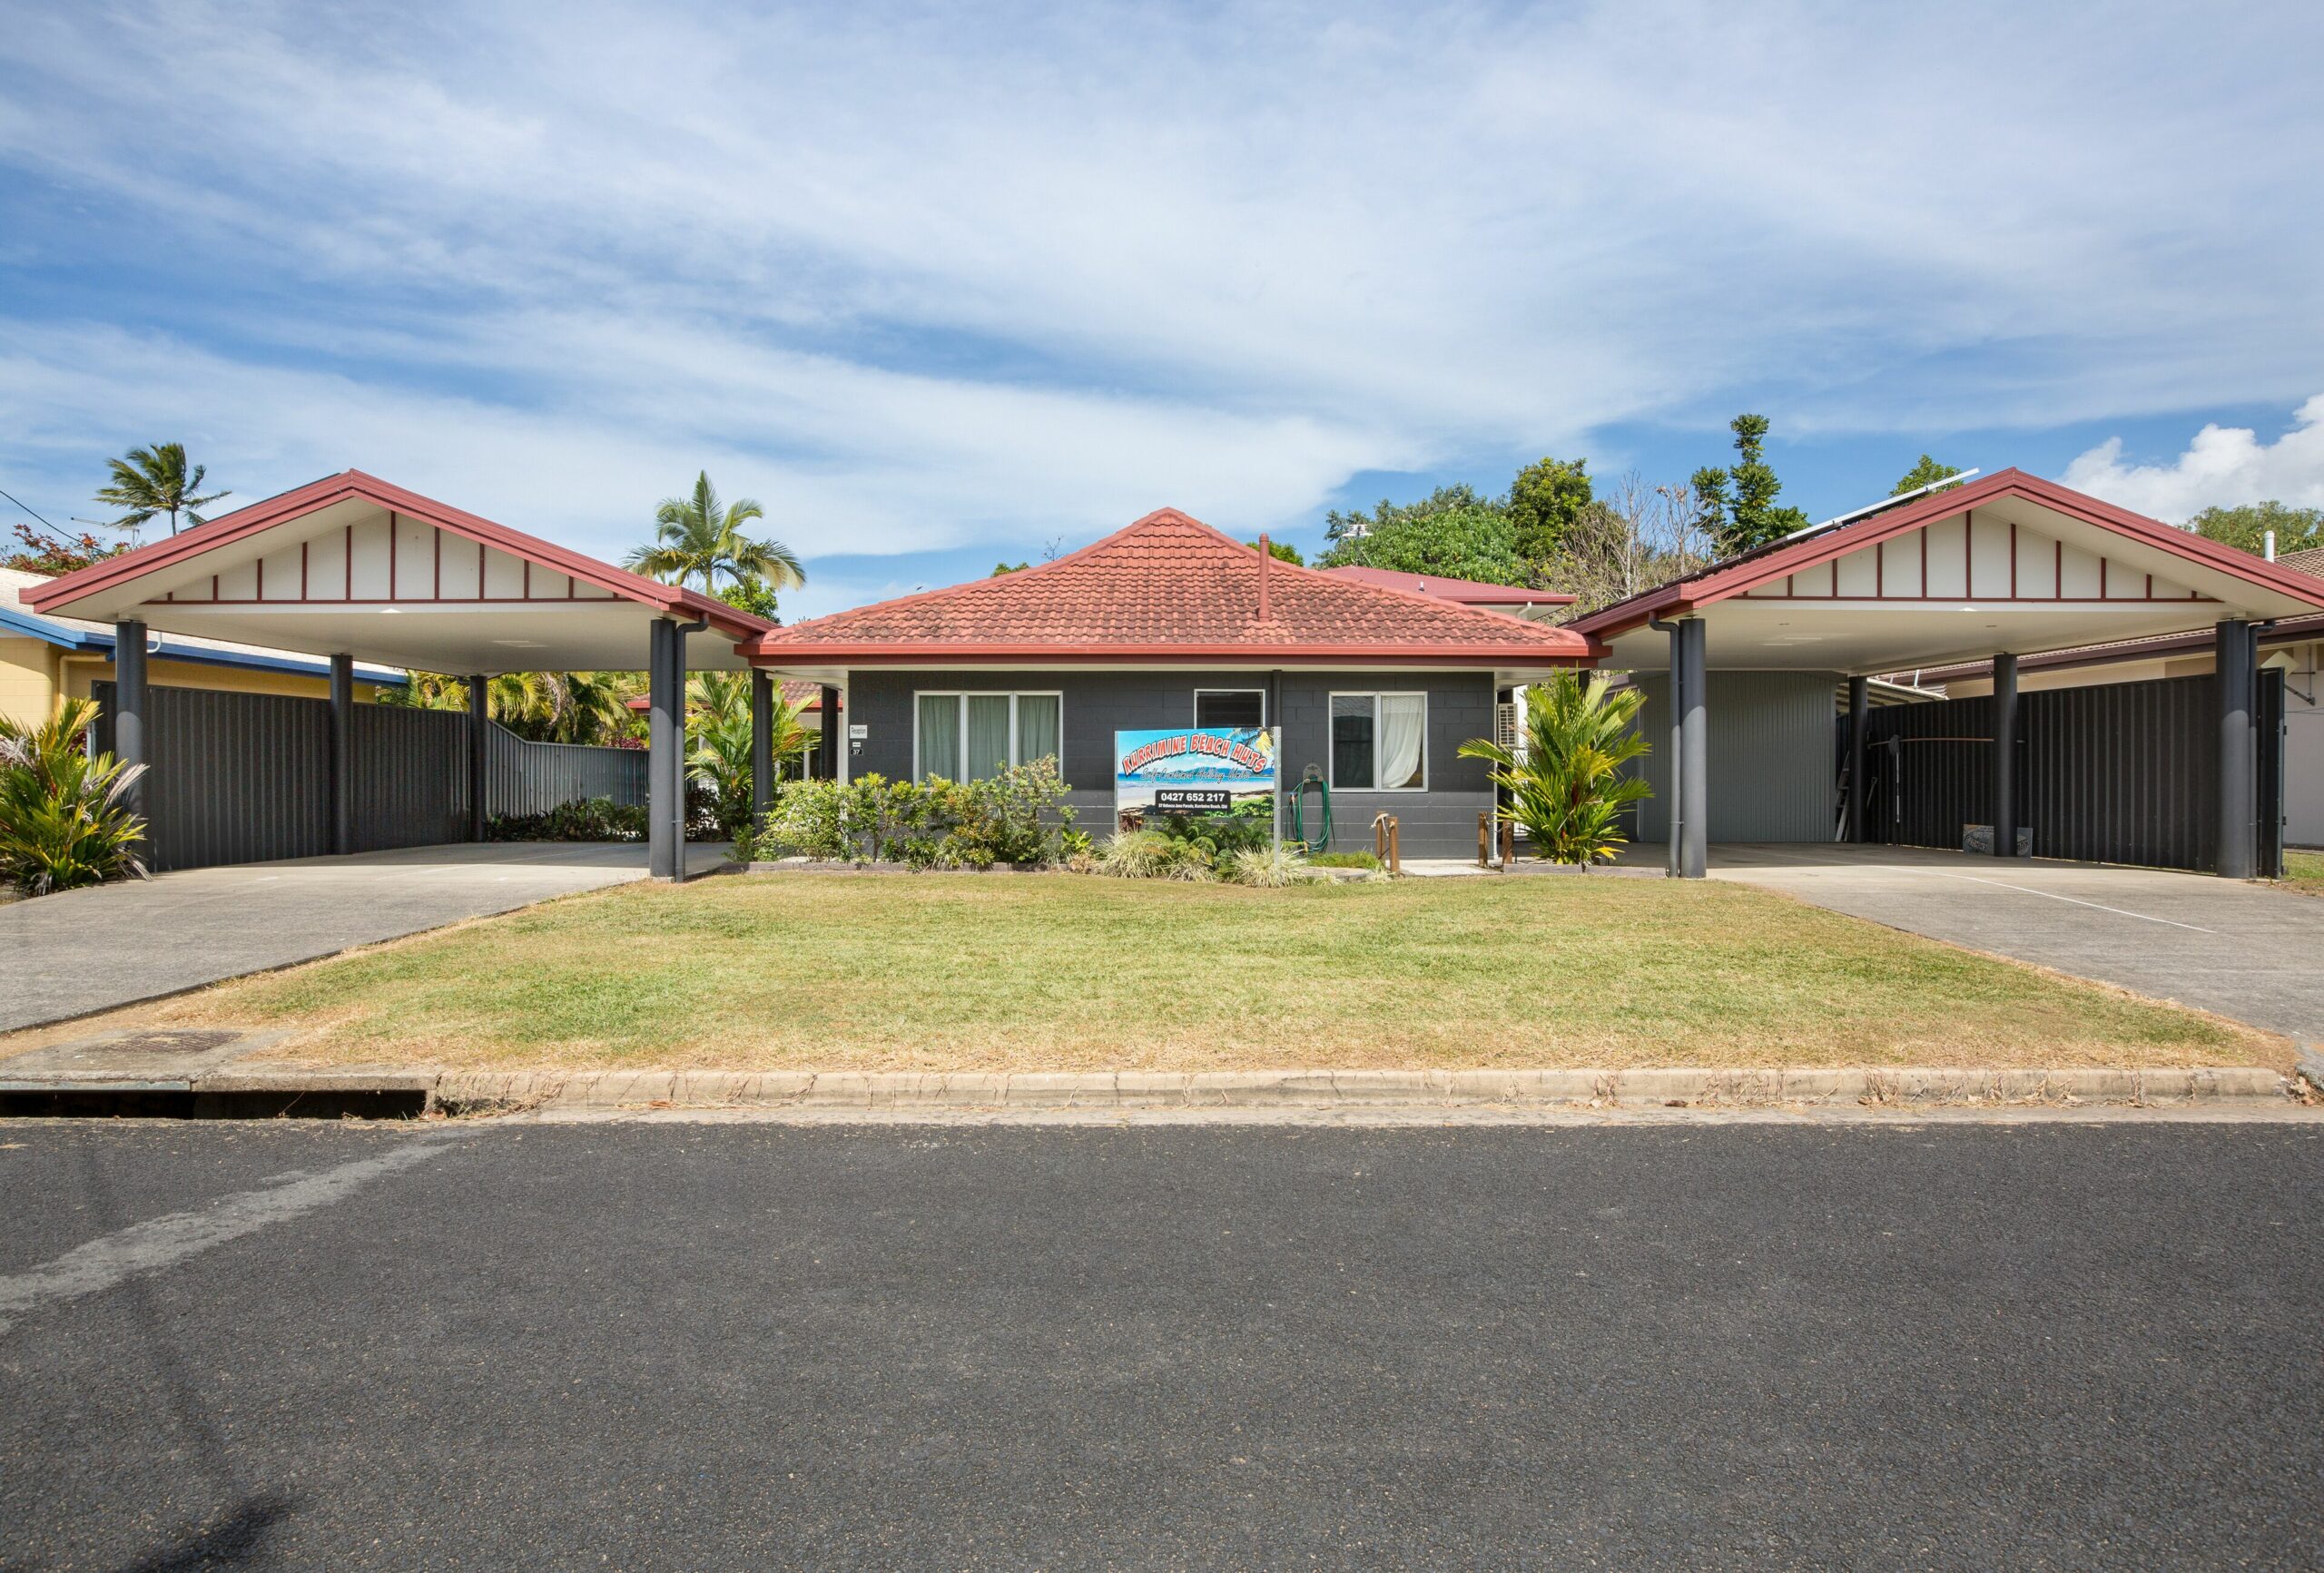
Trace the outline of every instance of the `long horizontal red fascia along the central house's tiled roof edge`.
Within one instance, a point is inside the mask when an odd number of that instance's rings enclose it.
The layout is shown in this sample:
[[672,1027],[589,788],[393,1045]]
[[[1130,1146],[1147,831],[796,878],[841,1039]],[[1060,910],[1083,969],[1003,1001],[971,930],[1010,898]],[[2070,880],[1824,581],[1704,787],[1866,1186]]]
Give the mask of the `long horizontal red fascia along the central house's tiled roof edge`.
[[1606,655],[1597,644],[1559,641],[1555,646],[1525,644],[792,644],[792,641],[744,641],[734,651],[762,667],[960,667],[971,662],[1041,665],[1109,665],[1153,667],[1176,662],[1334,662],[1334,665],[1390,665],[1390,667],[1527,667],[1527,665],[1587,665]]

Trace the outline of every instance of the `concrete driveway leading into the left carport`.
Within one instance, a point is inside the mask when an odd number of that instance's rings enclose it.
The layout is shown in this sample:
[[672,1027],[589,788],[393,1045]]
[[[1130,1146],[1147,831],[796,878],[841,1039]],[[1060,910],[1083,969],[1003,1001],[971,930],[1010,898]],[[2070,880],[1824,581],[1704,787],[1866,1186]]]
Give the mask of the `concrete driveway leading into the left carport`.
[[[725,862],[688,848],[688,869]],[[646,848],[488,841],[186,869],[0,906],[0,1032],[646,878]]]

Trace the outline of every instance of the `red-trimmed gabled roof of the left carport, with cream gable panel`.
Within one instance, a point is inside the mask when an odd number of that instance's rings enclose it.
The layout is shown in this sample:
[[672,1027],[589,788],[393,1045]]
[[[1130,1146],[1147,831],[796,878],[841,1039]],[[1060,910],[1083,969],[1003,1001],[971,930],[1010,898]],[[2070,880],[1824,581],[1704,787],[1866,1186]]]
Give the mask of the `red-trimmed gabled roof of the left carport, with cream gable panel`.
[[23,599],[58,616],[135,618],[163,632],[430,671],[637,669],[646,625],[665,616],[704,620],[718,634],[690,651],[690,665],[741,667],[732,644],[772,627],[700,590],[360,469],[107,558]]

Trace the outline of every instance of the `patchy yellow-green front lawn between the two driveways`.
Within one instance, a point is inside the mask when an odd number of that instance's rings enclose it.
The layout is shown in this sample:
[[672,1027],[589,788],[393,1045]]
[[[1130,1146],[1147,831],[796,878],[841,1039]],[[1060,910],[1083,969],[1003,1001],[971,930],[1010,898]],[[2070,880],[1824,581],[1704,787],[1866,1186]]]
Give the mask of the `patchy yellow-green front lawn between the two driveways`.
[[1729,883],[623,885],[221,983],[309,1062],[718,1069],[2273,1064],[2266,1034]]

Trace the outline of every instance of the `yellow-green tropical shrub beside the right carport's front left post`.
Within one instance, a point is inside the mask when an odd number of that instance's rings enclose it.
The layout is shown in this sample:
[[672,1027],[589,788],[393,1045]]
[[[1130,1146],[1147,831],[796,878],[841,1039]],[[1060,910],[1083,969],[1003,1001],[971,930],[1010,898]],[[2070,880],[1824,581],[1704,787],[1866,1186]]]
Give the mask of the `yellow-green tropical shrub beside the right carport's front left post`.
[[1592,674],[1590,685],[1573,671],[1525,690],[1525,760],[1487,739],[1459,746],[1464,760],[1487,760],[1492,783],[1508,792],[1501,818],[1525,827],[1534,853],[1550,862],[1592,864],[1613,860],[1627,841],[1618,829],[1627,804],[1652,797],[1645,781],[1622,767],[1648,750],[1631,730],[1636,688],[1611,690]]

